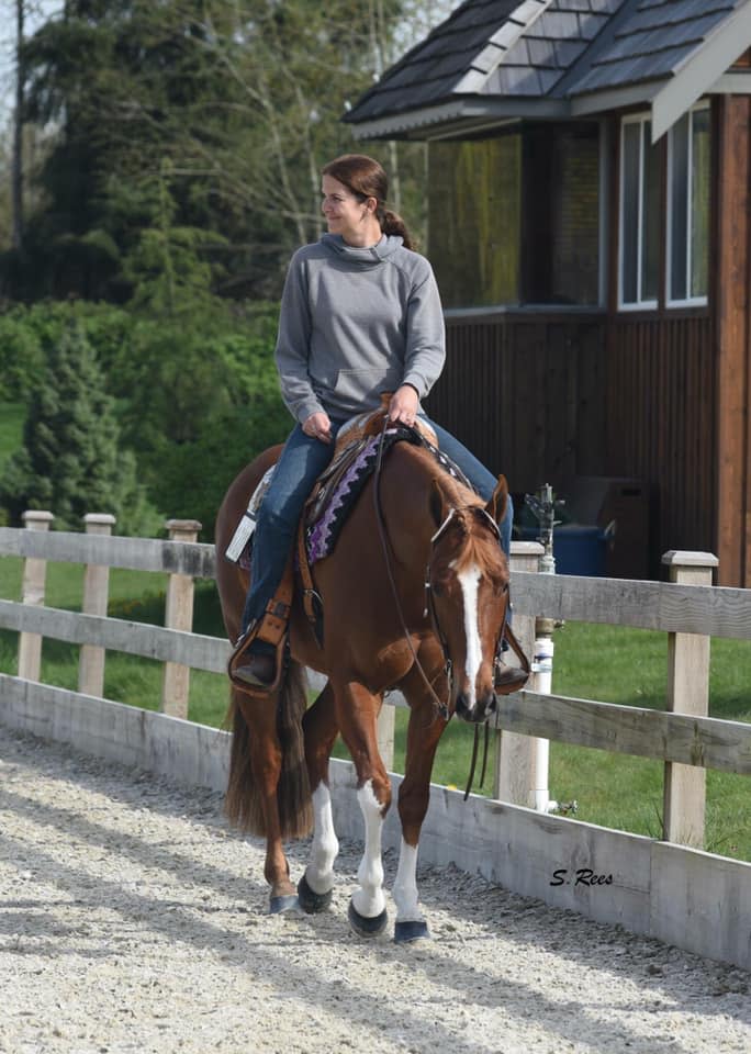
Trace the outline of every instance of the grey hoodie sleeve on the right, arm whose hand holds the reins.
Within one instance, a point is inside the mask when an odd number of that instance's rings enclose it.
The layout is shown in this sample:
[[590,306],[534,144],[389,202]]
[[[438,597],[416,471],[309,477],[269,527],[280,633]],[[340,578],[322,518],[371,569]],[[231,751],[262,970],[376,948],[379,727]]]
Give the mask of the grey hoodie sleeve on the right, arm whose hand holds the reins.
[[440,377],[446,361],[444,310],[433,268],[425,258],[415,274],[407,303],[406,352],[402,384],[424,399]]

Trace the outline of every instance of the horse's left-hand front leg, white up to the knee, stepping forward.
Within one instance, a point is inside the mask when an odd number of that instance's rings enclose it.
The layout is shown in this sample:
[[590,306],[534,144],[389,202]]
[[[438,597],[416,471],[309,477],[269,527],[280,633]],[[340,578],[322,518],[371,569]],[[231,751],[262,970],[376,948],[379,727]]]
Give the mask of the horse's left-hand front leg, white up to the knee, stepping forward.
[[335,697],[341,737],[357,771],[357,797],[365,820],[365,853],[357,872],[359,885],[349,905],[349,922],[360,937],[375,937],[388,921],[381,833],[391,805],[391,781],[378,751],[377,735],[383,697],[358,682],[336,685]]

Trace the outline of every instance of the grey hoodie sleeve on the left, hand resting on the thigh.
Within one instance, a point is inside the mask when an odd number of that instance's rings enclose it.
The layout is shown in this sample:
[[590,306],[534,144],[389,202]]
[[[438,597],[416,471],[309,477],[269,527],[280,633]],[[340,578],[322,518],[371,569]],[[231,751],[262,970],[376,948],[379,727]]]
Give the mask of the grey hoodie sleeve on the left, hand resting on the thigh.
[[279,315],[277,369],[284,405],[301,424],[311,414],[323,413],[307,372],[311,341],[311,310],[307,274],[299,253],[292,257]]

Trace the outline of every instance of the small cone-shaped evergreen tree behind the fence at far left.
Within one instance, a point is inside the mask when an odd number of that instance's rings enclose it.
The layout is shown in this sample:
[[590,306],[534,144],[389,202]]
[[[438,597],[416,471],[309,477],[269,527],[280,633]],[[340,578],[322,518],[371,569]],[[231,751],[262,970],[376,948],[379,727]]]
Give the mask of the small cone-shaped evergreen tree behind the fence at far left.
[[92,512],[113,513],[120,534],[159,525],[136,480],[133,453],[120,448],[113,401],[78,324],[49,354],[32,394],[23,449],[0,483],[0,503],[16,520],[26,508],[49,509],[63,529],[80,530]]

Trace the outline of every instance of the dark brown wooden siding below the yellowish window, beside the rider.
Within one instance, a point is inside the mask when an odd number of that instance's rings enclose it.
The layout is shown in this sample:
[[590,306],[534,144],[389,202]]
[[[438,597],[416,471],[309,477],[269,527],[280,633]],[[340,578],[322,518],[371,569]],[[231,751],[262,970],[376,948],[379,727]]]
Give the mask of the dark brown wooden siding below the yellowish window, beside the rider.
[[605,472],[602,316],[453,317],[427,402],[513,492]]

